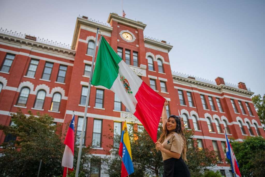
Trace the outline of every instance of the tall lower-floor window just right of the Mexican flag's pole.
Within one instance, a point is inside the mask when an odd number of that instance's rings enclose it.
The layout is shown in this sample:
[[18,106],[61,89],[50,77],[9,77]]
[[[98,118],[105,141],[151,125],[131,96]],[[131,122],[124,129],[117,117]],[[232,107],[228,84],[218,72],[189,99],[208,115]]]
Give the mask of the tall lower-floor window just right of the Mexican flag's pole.
[[102,120],[94,119],[92,146],[101,147]]

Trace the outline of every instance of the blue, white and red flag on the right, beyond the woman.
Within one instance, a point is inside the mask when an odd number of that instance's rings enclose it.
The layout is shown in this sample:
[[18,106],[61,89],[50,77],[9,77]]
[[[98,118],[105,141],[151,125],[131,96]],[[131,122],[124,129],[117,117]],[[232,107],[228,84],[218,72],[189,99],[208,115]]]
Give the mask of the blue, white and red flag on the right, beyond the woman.
[[236,177],[241,177],[240,171],[239,171],[239,166],[236,160],[236,156],[234,154],[234,151],[232,149],[232,146],[227,138],[226,132],[226,157],[230,160],[231,162],[231,167],[232,167],[232,172],[236,175]]

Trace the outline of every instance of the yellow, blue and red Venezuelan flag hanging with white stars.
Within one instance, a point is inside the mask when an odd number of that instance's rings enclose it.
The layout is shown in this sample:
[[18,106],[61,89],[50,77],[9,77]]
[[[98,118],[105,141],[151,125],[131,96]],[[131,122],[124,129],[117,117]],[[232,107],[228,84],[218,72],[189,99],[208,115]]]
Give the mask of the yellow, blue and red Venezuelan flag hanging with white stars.
[[122,158],[121,177],[126,177],[134,172],[131,145],[127,131],[126,121],[122,128],[119,155]]

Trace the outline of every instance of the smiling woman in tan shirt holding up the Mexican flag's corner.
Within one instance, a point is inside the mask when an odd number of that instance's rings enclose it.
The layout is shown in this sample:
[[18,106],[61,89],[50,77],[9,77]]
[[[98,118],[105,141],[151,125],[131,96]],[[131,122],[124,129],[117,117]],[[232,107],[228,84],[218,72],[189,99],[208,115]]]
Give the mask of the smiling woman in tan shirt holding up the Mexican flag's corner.
[[[163,132],[156,142],[156,148],[162,153],[164,162],[163,177],[191,176],[186,158],[186,139],[182,130],[180,116],[170,115],[167,119],[165,100],[162,111]],[[182,154],[182,157],[180,156]]]

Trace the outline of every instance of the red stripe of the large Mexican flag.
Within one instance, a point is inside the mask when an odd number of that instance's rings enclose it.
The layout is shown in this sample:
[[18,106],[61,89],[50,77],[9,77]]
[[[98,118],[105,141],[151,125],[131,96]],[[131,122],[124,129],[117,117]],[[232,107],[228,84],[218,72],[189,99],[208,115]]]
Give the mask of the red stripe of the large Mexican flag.
[[140,120],[155,143],[165,98],[157,94],[144,82],[139,87],[135,98],[138,103],[134,115]]

